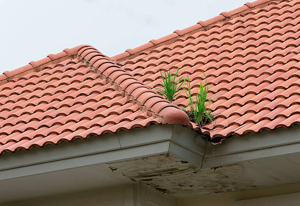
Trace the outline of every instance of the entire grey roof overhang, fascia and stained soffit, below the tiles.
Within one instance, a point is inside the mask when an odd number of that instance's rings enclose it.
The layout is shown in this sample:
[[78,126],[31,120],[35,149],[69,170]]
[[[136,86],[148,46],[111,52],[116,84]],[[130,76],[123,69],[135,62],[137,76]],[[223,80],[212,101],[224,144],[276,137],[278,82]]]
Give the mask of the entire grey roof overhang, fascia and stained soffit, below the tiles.
[[[166,190],[176,197],[295,183],[300,181],[299,131],[300,126],[294,126],[249,133],[212,145],[188,128],[152,125],[47,145],[43,149],[4,153],[0,158],[0,190],[6,192],[1,193],[0,199],[10,200],[12,191],[8,187],[13,188],[13,200],[17,200],[126,184],[131,180]],[[218,182],[216,175],[221,179]],[[187,185],[174,187],[177,180],[186,181]],[[193,182],[192,187],[189,181]],[[57,182],[59,190],[53,189]],[[37,192],[26,191],[28,184]]]

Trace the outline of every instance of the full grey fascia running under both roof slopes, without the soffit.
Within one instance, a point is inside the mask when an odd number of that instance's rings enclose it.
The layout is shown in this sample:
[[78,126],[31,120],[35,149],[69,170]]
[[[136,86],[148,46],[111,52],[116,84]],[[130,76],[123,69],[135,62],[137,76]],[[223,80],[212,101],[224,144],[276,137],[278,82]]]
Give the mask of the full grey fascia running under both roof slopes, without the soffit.
[[300,152],[300,126],[249,133],[212,145],[179,125],[152,125],[102,137],[77,139],[0,156],[0,180],[120,162],[156,154],[172,154],[199,168],[220,167],[253,159]]

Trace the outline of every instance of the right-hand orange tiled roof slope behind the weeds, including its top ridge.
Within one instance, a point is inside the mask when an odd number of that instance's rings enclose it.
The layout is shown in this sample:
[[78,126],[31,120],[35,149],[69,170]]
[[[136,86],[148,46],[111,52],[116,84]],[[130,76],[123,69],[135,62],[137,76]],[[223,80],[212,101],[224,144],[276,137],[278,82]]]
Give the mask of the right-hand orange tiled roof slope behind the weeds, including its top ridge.
[[[300,120],[300,1],[246,4],[113,58],[151,88],[161,80],[160,69],[181,67],[194,97],[204,71],[216,120],[200,130],[215,142],[291,127]],[[175,103],[183,108],[188,100],[182,94]]]

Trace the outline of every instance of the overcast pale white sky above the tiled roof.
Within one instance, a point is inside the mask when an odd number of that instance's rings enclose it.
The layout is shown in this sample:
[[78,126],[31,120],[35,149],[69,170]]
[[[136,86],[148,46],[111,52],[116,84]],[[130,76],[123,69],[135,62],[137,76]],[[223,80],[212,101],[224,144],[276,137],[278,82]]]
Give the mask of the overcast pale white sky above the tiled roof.
[[113,56],[245,2],[0,0],[0,74],[80,44]]

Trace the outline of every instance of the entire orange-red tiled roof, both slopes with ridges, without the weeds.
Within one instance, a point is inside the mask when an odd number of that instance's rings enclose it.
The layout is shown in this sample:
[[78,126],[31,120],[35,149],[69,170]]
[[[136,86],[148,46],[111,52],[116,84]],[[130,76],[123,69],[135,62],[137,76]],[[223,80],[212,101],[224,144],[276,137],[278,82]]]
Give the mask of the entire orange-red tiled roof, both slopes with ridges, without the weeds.
[[[300,2],[258,0],[112,58],[81,45],[0,76],[0,154],[150,124],[191,126],[212,142],[300,118]],[[216,120],[203,128],[158,95],[160,69],[205,72]]]

